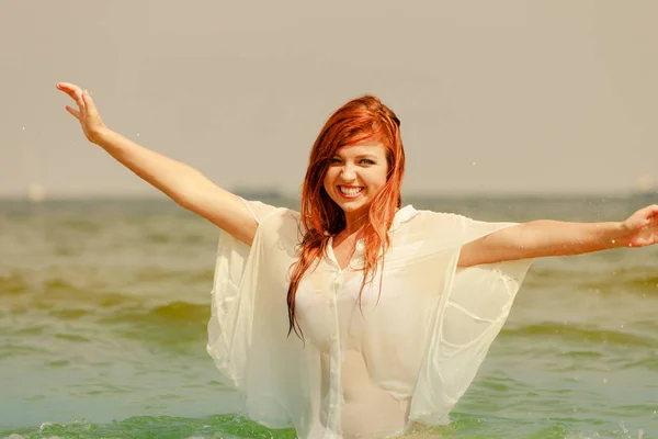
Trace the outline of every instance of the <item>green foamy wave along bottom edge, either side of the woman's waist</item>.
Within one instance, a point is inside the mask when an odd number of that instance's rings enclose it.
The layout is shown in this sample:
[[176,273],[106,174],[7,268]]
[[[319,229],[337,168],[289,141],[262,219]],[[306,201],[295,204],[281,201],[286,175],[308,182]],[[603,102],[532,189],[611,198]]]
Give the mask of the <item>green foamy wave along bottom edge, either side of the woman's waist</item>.
[[[645,407],[646,410],[646,407]],[[639,410],[639,412],[645,412]],[[495,412],[495,410],[494,410]],[[514,416],[515,415],[515,416]],[[454,413],[450,426],[431,427],[419,434],[423,438],[643,438],[644,429],[626,427],[619,420],[569,416],[536,418],[530,413],[467,414]],[[172,416],[135,416],[107,424],[94,424],[87,419],[72,423],[43,423],[38,427],[0,430],[3,439],[33,439],[75,437],[95,438],[224,438],[224,439],[294,439],[295,430],[272,430],[240,415],[213,415],[200,418]],[[413,436],[416,437],[416,435]]]

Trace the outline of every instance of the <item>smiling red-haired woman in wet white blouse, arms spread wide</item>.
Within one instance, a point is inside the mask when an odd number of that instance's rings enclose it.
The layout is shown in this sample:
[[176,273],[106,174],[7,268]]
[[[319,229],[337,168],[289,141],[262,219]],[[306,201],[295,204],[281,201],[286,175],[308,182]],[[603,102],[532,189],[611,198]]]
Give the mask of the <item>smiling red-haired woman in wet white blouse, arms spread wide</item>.
[[658,240],[658,206],[620,223],[483,223],[401,206],[399,120],[374,97],[339,109],[310,154],[300,213],[245,201],[107,130],[58,83],[87,138],[220,227],[208,352],[247,415],[302,438],[445,424],[532,258]]

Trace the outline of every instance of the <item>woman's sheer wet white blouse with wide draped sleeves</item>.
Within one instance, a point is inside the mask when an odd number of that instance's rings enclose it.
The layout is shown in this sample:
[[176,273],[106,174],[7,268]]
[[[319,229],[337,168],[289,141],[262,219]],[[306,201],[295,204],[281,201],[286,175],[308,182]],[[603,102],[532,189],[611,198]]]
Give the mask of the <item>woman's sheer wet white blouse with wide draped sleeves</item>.
[[[251,247],[222,233],[208,353],[246,415],[299,438],[372,438],[447,424],[504,324],[531,261],[457,269],[461,247],[513,223],[399,210],[383,275],[359,292],[363,243],[341,270],[331,241],[300,282],[304,341],[286,337],[299,214],[246,202]],[[381,290],[379,290],[381,282]]]

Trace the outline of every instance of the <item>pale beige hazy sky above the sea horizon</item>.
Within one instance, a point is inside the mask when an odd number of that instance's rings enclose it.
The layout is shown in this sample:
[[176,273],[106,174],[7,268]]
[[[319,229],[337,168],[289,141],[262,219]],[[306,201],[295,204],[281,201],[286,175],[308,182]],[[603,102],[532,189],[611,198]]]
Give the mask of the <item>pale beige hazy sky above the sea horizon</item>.
[[406,192],[620,193],[658,177],[658,2],[0,2],[0,195],[155,194],[105,123],[231,189],[296,193],[329,114],[402,121]]

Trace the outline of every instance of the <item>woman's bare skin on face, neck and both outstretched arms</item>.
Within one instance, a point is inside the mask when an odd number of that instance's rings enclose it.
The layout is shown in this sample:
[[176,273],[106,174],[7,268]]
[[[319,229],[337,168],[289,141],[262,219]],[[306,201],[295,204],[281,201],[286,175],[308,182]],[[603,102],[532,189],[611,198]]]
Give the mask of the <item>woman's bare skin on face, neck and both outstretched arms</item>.
[[[77,108],[66,110],[78,120],[86,137],[181,206],[211,221],[243,243],[251,244],[258,224],[240,199],[217,187],[188,165],[151,151],[109,130],[86,90],[59,82]],[[371,162],[372,161],[372,162]],[[345,212],[345,229],[334,237],[334,251],[353,252],[367,209],[386,177],[384,146],[376,143],[341,148],[325,177],[325,188]],[[362,187],[345,198],[339,188]],[[508,227],[463,246],[458,264],[469,267],[504,260],[580,255],[619,247],[658,243],[658,205],[638,210],[622,222],[569,223],[540,219]],[[344,249],[344,250],[342,250]]]

